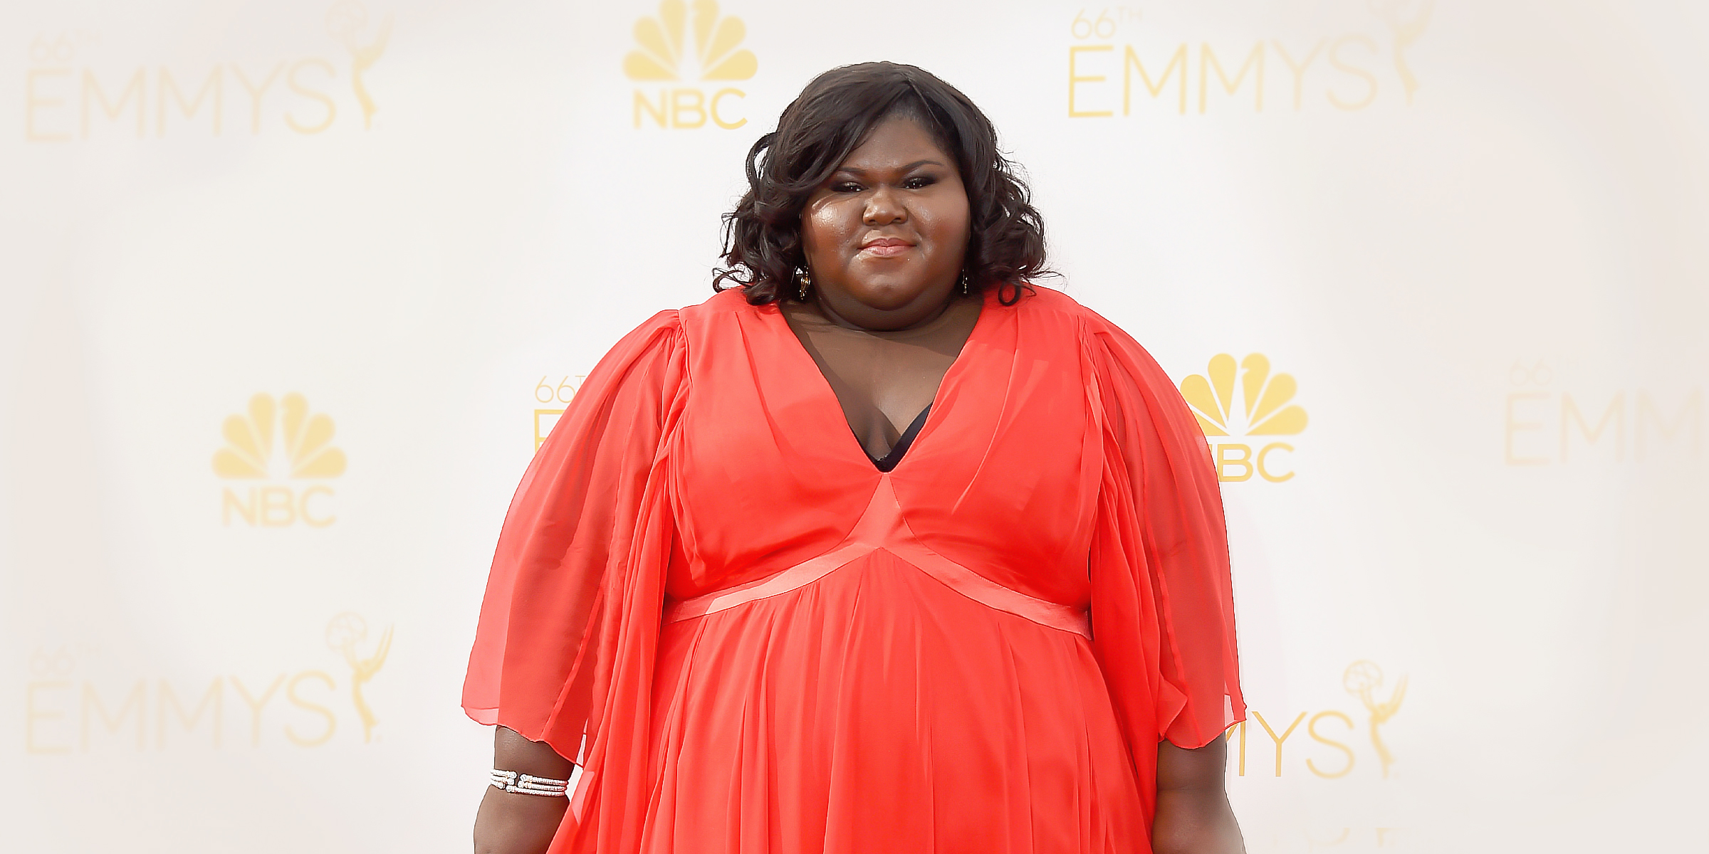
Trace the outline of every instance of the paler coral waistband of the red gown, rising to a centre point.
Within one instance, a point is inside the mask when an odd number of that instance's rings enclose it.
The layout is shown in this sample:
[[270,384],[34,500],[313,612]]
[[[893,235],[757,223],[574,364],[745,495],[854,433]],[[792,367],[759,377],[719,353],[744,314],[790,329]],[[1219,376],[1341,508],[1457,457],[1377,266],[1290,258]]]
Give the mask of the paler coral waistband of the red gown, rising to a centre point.
[[907,526],[907,519],[902,518],[902,504],[896,499],[889,475],[878,478],[878,488],[873,490],[872,502],[866,504],[866,511],[854,523],[854,529],[829,552],[759,581],[668,603],[665,622],[692,620],[750,601],[781,596],[805,588],[880,548],[979,605],[1032,620],[1049,629],[1073,632],[1085,639],[1092,637],[1090,618],[1084,610],[1005,588],[933,552],[919,541]]

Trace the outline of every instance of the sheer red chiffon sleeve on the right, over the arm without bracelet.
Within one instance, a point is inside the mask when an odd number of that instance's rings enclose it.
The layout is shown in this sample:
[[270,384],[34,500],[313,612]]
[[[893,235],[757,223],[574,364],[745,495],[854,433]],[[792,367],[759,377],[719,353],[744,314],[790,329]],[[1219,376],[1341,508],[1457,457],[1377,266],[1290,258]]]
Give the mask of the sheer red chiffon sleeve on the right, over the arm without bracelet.
[[1135,758],[1150,767],[1147,745],[1198,748],[1246,717],[1222,492],[1169,376],[1125,331],[1087,314],[1082,343],[1104,441],[1092,646]]

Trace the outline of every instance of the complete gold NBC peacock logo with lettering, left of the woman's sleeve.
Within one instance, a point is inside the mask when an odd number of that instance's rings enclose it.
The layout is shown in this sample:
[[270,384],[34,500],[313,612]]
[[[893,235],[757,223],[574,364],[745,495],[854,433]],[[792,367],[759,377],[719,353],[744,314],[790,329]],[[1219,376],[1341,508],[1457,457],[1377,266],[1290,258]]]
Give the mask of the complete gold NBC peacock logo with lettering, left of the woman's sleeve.
[[[214,453],[214,473],[227,480],[272,480],[250,487],[248,499],[226,487],[220,518],[231,524],[232,512],[251,526],[284,528],[301,519],[309,528],[326,528],[337,521],[320,512],[320,502],[333,497],[332,487],[316,483],[301,492],[277,483],[282,478],[325,480],[344,473],[344,451],[332,446],[333,424],[325,413],[309,415],[309,401],[289,393],[277,403],[272,395],[250,398],[246,413],[229,415],[220,432],[226,447]],[[273,437],[282,439],[273,442]]]

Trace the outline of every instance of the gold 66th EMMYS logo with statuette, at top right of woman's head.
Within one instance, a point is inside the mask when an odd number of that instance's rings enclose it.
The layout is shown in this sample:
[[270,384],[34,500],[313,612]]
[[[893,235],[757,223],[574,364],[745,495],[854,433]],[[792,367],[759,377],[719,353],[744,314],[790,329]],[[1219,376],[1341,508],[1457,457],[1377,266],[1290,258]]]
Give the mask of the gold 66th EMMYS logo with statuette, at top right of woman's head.
[[[1275,101],[1278,87],[1292,96],[1294,111],[1306,109],[1307,101],[1359,111],[1384,91],[1377,65],[1384,44],[1407,104],[1412,104],[1420,84],[1408,51],[1429,27],[1434,0],[1371,0],[1369,9],[1383,24],[1376,38],[1357,29],[1306,43],[1258,38],[1249,50],[1222,46],[1220,55],[1210,41],[1174,41],[1155,26],[1140,31],[1136,9],[1080,10],[1068,26],[1073,39],[1068,46],[1068,116],[1111,118],[1118,97],[1123,116],[1169,106],[1184,116],[1189,102],[1198,114],[1210,113],[1213,104],[1220,113],[1244,109],[1236,108],[1242,101],[1253,104],[1253,113],[1263,113],[1265,91]],[[1118,44],[1118,36],[1125,43]],[[1136,44],[1135,36],[1143,36],[1143,44]],[[1157,108],[1147,108],[1147,96]]]

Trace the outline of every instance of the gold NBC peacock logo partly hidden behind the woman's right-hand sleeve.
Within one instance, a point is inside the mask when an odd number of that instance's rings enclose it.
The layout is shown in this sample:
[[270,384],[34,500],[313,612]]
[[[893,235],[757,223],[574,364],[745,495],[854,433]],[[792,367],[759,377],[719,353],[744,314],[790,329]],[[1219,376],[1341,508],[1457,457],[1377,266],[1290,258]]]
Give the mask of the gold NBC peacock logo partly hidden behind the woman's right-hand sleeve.
[[[1265,442],[1254,454],[1251,444],[1220,442],[1215,437],[1268,437],[1304,432],[1306,410],[1289,403],[1297,391],[1299,383],[1294,381],[1294,376],[1271,374],[1270,359],[1263,354],[1249,354],[1239,366],[1232,355],[1217,354],[1210,359],[1205,374],[1193,374],[1181,381],[1181,396],[1193,408],[1193,415],[1212,446],[1219,480],[1251,480],[1253,473],[1258,473],[1271,483],[1280,483],[1294,477],[1294,471],[1275,470],[1275,463],[1270,459],[1275,453],[1292,454],[1292,444]],[[1237,398],[1236,393],[1239,393]]]

